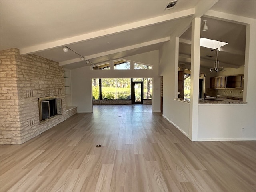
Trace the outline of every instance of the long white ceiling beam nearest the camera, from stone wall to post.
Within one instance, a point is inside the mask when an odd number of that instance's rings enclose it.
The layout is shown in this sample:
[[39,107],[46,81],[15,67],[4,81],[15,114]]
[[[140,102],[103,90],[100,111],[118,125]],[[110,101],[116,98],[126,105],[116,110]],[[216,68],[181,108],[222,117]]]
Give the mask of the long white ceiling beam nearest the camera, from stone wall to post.
[[162,22],[167,22],[169,20],[184,18],[184,17],[191,16],[193,14],[194,14],[194,9],[193,8],[188,9],[188,10],[183,10],[183,11],[180,11],[180,12],[174,12],[174,13],[171,13],[171,14],[166,14],[166,15],[163,15],[163,16],[158,16],[158,17],[154,17],[154,18],[150,18],[150,19],[146,19],[146,20],[140,20],[138,22],[133,22],[133,23],[124,24],[124,25],[121,25],[121,26],[116,26],[116,27],[112,27],[112,28],[108,28],[108,29],[104,29],[104,30],[99,30],[99,31],[96,31],[96,32],[82,34],[82,35],[79,35],[79,36],[74,36],[74,37],[70,37],[70,38],[66,38],[66,39],[62,39],[62,40],[48,42],[48,43],[45,43],[45,44],[38,44],[38,45],[35,45],[35,46],[21,48],[20,49],[20,54],[24,55],[24,54],[36,53],[36,52],[39,52],[39,51],[42,51],[42,50],[48,50],[48,49],[51,49],[51,48],[56,48],[56,47],[61,47],[61,46],[64,46],[64,45],[74,44],[74,43],[77,43],[77,42],[92,40],[94,38],[109,36],[109,35],[117,34],[117,33],[120,33],[120,32],[125,32],[125,31],[134,30],[134,29],[138,29],[138,28],[142,28],[142,27],[146,27],[146,26],[150,26],[150,25],[154,25],[154,24],[158,24],[158,23],[162,23]]

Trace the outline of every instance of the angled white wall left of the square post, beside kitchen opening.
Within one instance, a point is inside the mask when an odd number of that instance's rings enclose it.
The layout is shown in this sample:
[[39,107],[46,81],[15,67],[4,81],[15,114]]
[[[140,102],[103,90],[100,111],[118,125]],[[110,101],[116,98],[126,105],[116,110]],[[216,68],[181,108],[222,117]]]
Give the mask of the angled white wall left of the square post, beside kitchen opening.
[[177,38],[171,38],[159,50],[159,71],[163,76],[163,116],[188,136],[190,104],[174,100],[178,97],[178,50]]

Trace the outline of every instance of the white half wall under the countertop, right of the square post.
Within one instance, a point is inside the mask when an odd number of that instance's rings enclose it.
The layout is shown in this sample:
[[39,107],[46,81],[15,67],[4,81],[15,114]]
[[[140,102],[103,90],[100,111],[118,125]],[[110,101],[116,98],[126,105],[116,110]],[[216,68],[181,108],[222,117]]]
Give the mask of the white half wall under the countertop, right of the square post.
[[248,104],[199,105],[198,141],[255,140],[255,113],[250,108]]

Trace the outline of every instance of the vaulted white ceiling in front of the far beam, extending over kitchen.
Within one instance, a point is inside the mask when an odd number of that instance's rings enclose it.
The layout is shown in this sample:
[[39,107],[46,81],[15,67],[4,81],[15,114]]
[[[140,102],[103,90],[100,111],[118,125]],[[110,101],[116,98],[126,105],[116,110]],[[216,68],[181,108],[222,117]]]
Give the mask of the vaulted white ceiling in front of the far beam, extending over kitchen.
[[[171,34],[182,34],[182,39],[190,40],[192,18],[203,16],[209,8],[256,19],[254,0],[179,0],[173,9],[164,10],[168,2],[1,0],[0,48],[19,48],[21,54],[34,53],[60,62],[66,68],[78,68],[85,66],[85,62],[72,51],[63,52],[63,46],[100,63],[157,50]],[[207,19],[209,30],[201,32],[202,37],[229,43],[223,47],[225,56],[220,54],[220,60],[223,58],[227,66],[241,65],[245,26],[203,18]],[[209,49],[202,49],[201,57],[211,54],[208,52]],[[180,59],[189,62],[190,45],[187,42],[180,44],[180,53]]]

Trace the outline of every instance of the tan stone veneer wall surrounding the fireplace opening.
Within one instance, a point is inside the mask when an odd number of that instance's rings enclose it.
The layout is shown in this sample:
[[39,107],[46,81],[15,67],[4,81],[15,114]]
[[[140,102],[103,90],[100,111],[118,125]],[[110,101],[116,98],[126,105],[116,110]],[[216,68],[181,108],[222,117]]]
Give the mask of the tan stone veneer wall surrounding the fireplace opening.
[[[16,48],[0,56],[0,144],[22,144],[66,119],[63,67]],[[40,125],[38,98],[46,96],[62,99],[62,115]]]

